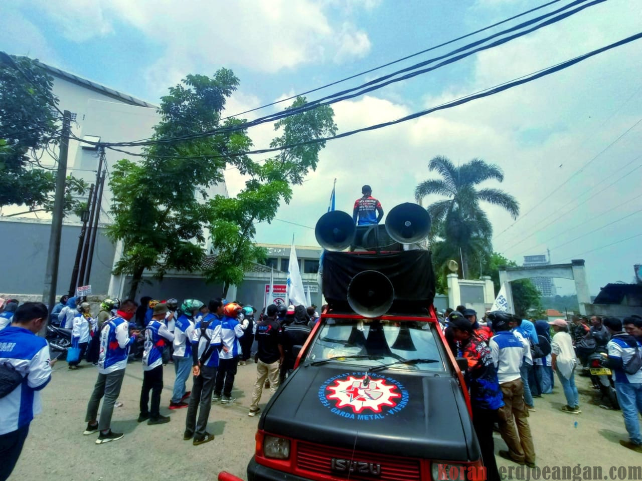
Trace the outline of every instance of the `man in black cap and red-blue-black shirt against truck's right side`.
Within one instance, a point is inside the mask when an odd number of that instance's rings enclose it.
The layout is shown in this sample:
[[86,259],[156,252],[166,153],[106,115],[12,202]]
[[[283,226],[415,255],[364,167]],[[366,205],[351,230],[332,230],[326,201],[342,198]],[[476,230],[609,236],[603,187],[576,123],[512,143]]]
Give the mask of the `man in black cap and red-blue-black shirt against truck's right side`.
[[492,439],[492,426],[497,420],[498,409],[504,405],[499,389],[497,371],[492,364],[490,349],[485,340],[479,337],[469,319],[453,316],[449,322],[455,341],[459,344],[462,356],[468,361],[464,379],[471,395],[473,408],[473,427],[482,450],[486,479],[499,481],[495,461],[495,445]]

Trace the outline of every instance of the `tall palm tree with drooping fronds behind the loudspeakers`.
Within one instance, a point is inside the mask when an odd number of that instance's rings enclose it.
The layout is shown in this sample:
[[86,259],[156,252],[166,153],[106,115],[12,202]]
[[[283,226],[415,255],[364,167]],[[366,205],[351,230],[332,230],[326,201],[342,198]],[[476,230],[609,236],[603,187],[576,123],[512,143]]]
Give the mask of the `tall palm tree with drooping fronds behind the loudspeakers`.
[[487,164],[480,158],[455,167],[448,158],[438,155],[429,162],[428,170],[437,171],[442,178],[419,183],[415,199],[419,202],[429,194],[447,197],[426,208],[432,219],[430,240],[436,241],[435,261],[440,265],[448,258],[462,258],[460,269],[463,277],[469,273],[469,261],[479,260],[492,251],[492,225],[480,202],[505,208],[513,219],[519,215],[519,203],[503,190],[476,188],[486,180],[504,180],[504,174],[497,165]]

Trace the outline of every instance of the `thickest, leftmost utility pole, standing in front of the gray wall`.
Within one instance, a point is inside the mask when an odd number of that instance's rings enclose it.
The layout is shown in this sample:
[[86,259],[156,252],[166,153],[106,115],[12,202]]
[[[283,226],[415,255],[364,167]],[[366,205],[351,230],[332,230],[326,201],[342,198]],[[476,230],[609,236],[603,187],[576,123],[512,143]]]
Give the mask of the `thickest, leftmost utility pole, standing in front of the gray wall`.
[[[62,117],[62,133],[60,134],[60,155],[58,156],[58,173],[56,174],[56,195],[51,216],[51,234],[49,235],[49,253],[47,255],[47,270],[44,274],[44,290],[42,301],[47,303],[49,314],[56,305],[56,283],[58,282],[58,261],[60,260],[60,236],[62,234],[62,217],[65,207],[65,180],[67,178],[67,155],[69,154],[69,133],[71,131],[71,112],[65,110]],[[47,321],[49,322],[49,316]],[[44,336],[46,323],[43,324],[39,335]]]

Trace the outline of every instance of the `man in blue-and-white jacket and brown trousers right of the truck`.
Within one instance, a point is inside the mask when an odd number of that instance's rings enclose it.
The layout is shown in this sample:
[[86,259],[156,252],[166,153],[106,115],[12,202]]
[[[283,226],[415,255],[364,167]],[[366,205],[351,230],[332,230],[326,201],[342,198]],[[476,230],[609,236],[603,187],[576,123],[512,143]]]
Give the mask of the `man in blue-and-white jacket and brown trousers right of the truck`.
[[524,385],[519,371],[526,355],[526,346],[510,332],[510,314],[494,311],[490,312],[488,317],[495,332],[489,341],[490,355],[497,369],[499,387],[504,396],[504,406],[498,412],[499,433],[508,446],[508,451],[499,451],[499,455],[517,464],[526,464],[529,468],[534,468],[535,447],[528,425],[528,410],[523,399]]

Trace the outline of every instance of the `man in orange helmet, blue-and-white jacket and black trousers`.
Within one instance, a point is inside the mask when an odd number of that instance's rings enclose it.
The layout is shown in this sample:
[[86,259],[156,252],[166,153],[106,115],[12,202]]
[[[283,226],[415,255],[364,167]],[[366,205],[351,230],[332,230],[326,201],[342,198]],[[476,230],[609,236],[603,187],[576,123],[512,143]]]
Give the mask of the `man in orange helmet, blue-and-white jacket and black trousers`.
[[[235,302],[230,302],[223,307],[223,319],[221,321],[220,343],[221,349],[218,352],[218,370],[216,371],[216,385],[214,385],[214,396],[212,401],[221,400],[221,403],[236,401],[232,398],[232,386],[236,376],[236,366],[241,353],[239,337],[243,335],[243,326],[236,320],[243,308]],[[213,339],[218,341],[218,339]],[[222,394],[222,396],[221,396]]]

